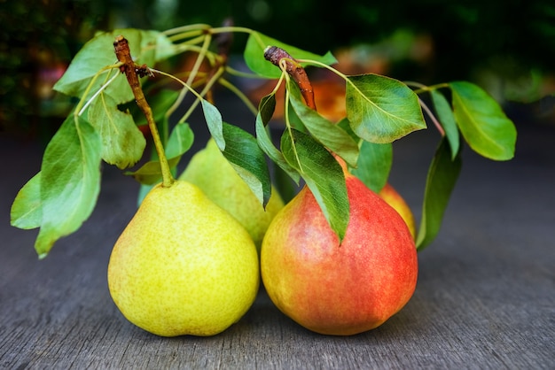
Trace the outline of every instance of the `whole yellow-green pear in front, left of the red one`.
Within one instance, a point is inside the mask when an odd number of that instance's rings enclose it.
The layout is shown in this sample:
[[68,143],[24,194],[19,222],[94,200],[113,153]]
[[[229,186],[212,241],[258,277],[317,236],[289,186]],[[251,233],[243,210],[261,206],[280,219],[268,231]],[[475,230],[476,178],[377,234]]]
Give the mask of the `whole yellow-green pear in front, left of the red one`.
[[121,313],[155,335],[216,335],[259,287],[254,243],[195,185],[154,187],[115,243],[108,288]]

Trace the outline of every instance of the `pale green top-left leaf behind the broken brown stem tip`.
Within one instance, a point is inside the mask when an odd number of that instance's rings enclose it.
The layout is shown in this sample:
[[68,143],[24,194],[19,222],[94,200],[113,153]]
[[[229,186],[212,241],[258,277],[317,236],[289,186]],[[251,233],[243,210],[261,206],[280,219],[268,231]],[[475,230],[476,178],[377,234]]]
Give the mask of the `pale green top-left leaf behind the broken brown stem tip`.
[[[158,31],[138,30],[133,28],[116,29],[113,32],[98,33],[85,43],[75,55],[66,73],[54,85],[54,89],[68,96],[81,97],[98,71],[117,62],[113,51],[113,40],[117,35],[123,35],[129,41],[131,57],[137,64],[153,66],[157,61],[175,53],[174,47],[165,35]],[[120,73],[115,69],[109,73]],[[108,77],[100,77],[95,81],[90,93],[98,91]],[[116,104],[122,104],[134,99],[133,93],[124,75],[121,75],[109,87],[105,94],[111,96]]]

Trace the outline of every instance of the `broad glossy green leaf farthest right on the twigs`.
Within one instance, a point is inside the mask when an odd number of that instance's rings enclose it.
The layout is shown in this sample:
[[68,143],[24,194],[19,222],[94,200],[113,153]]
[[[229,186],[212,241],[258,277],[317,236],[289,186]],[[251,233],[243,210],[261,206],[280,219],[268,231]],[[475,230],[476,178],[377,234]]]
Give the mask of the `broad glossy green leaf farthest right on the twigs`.
[[449,83],[453,111],[466,143],[483,157],[508,160],[514,157],[517,131],[499,104],[470,82]]

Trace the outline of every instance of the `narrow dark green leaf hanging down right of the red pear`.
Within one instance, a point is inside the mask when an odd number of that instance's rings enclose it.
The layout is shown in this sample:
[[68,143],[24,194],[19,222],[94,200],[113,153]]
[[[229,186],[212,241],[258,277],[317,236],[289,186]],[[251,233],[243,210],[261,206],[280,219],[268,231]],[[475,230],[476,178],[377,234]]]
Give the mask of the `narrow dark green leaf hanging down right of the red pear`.
[[442,226],[443,213],[449,204],[449,197],[455,188],[462,166],[461,153],[451,160],[449,143],[442,138],[434,159],[428,169],[422,219],[418,229],[417,249],[421,251],[434,241]]

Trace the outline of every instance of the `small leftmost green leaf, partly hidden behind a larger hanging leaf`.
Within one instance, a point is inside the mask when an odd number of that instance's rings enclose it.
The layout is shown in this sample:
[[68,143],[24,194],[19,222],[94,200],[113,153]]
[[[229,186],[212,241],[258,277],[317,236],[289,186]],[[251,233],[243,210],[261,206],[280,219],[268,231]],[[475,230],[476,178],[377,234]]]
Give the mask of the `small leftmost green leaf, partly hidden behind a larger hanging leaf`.
[[41,226],[43,209],[41,207],[41,173],[35,174],[20,189],[12,204],[11,224],[20,228]]

